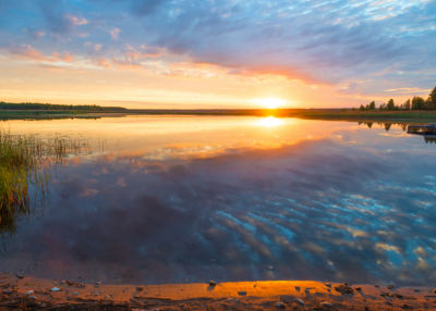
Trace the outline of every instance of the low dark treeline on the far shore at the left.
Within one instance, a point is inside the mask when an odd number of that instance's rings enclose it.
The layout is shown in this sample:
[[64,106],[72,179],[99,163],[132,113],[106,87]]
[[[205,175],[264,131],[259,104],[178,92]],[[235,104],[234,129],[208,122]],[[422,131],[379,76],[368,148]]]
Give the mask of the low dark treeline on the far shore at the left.
[[4,102],[0,101],[0,110],[71,110],[71,111],[126,111],[122,107],[101,107],[96,104],[53,104],[39,102]]

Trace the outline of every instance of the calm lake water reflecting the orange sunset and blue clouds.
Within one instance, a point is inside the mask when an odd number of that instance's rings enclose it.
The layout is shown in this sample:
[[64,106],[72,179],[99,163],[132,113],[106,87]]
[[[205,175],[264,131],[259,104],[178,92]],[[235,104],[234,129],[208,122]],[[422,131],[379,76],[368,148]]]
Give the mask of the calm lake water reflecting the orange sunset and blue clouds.
[[132,116],[5,126],[84,148],[5,241],[3,272],[109,284],[436,281],[436,145],[398,125]]

